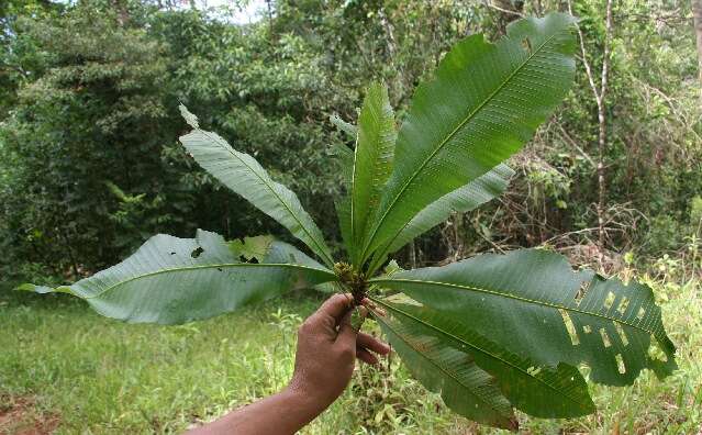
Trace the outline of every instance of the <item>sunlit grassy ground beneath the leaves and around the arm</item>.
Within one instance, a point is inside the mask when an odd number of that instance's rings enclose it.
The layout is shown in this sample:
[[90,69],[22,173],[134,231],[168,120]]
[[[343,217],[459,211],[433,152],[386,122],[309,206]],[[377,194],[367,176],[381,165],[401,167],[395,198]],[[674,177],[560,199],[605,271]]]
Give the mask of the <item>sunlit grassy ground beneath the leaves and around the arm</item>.
[[[531,433],[702,431],[702,294],[657,283],[680,370],[623,389],[592,386],[598,413],[572,421],[520,415]],[[294,331],[319,299],[290,297],[182,326],[103,319],[65,295],[0,289],[0,433],[170,433],[279,390]],[[453,415],[398,358],[361,368],[305,434],[490,433]]]

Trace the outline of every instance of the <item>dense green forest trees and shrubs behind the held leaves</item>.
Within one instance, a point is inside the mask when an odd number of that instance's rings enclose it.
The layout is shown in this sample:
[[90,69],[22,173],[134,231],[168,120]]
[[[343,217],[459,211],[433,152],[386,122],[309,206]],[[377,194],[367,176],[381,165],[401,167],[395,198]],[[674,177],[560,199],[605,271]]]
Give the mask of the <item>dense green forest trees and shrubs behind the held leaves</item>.
[[[548,3],[522,12],[559,7]],[[573,4],[595,80],[606,36],[600,3]],[[465,2],[281,0],[246,25],[227,22],[226,11],[146,0],[2,8],[5,277],[90,274],[157,232],[231,237],[267,225],[180,153],[179,100],[314,204],[339,242],[325,211],[341,175],[324,157],[346,138],[327,115],[354,120],[363,87],[382,79],[402,119],[412,88],[447,47],[467,33],[501,34],[514,18]],[[615,2],[613,16],[604,246],[593,205],[597,104],[580,67],[533,153],[512,164],[520,181],[506,199],[453,216],[401,258],[427,264],[548,243],[608,266],[627,252],[675,252],[698,230],[702,126],[690,3]]]

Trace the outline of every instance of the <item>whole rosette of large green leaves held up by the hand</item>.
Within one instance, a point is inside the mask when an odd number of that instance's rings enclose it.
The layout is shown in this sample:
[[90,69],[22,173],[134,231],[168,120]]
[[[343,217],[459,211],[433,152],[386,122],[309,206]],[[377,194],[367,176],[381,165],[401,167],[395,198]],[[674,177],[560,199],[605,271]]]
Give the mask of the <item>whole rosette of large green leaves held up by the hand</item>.
[[[578,367],[595,382],[631,384],[676,368],[660,309],[647,286],[573,271],[544,249],[479,255],[402,270],[389,257],[447,220],[505,190],[519,152],[566,97],[575,75],[575,19],[513,22],[506,36],[460,41],[421,83],[397,129],[382,85],[366,93],[357,125],[332,121],[355,142],[334,155],[346,248],[337,260],[298,197],[248,154],[200,127],[180,138],[198,164],[276,220],[313,254],[270,235],[225,241],[156,235],[123,263],[67,292],[129,322],[178,324],[231,312],[293,289],[350,292],[366,303],[412,375],[455,412],[516,428],[514,409],[537,417],[592,413]],[[370,302],[364,302],[369,300]]]

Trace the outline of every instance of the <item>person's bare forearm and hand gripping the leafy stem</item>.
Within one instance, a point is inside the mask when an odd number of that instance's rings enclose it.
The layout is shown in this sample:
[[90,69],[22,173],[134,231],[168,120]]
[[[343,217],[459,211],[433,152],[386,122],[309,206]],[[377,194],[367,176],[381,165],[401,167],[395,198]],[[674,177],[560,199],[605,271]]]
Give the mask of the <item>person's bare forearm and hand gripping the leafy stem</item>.
[[314,420],[344,392],[356,359],[374,365],[377,355],[390,352],[388,344],[354,330],[352,308],[349,294],[335,294],[302,323],[294,372],[286,389],[189,434],[294,434]]

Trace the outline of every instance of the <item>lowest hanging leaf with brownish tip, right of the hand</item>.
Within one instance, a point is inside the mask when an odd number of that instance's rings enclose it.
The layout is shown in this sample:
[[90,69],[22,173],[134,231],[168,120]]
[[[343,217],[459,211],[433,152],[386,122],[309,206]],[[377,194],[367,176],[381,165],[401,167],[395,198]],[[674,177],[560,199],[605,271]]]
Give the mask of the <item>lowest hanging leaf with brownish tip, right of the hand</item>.
[[444,403],[460,415],[495,427],[516,430],[510,402],[500,393],[494,378],[475,359],[447,346],[436,336],[417,333],[414,325],[371,311],[382,332],[426,389],[441,392]]

